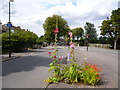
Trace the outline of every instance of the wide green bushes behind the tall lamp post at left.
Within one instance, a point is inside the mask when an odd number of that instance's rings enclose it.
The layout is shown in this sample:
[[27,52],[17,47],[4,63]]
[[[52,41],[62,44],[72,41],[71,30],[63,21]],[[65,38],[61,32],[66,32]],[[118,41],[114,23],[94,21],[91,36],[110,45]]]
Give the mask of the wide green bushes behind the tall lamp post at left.
[[2,51],[3,53],[8,52],[9,47],[12,52],[23,51],[26,48],[32,48],[36,44],[37,35],[30,31],[25,31],[24,29],[15,29],[14,33],[10,33],[9,42],[9,32],[0,35],[2,37]]

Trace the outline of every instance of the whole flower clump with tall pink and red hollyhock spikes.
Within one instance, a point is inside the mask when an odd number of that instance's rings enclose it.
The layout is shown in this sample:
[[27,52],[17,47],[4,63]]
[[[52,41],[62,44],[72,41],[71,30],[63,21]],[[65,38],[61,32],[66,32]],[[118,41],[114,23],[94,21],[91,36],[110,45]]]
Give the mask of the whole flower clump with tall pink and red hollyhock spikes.
[[87,85],[95,85],[100,81],[99,72],[101,71],[97,65],[89,64],[84,60],[82,65],[77,64],[77,59],[74,56],[74,43],[72,42],[72,33],[69,32],[70,36],[70,53],[66,60],[69,60],[69,64],[62,64],[63,57],[57,56],[57,33],[58,29],[55,29],[55,47],[52,52],[48,52],[51,57],[52,63],[50,69],[53,76],[46,80],[49,83],[65,82],[68,84],[73,83],[84,83]]

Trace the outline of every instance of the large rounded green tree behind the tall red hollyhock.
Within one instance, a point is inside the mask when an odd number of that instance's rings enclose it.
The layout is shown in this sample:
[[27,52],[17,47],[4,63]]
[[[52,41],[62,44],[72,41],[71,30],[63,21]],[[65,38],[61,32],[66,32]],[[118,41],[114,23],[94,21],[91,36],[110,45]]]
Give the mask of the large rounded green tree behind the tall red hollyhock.
[[45,37],[48,41],[54,41],[54,29],[56,28],[56,26],[59,29],[58,38],[60,36],[65,36],[69,31],[69,26],[64,18],[59,15],[48,17],[43,24]]

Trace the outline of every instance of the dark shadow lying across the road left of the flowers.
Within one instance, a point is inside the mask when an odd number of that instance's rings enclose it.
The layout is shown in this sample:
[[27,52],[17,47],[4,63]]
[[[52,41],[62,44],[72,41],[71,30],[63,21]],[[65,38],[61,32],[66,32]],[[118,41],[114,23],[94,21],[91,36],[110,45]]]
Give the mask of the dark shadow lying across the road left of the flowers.
[[15,72],[32,71],[38,66],[49,67],[50,58],[41,56],[26,56],[2,63],[2,76]]

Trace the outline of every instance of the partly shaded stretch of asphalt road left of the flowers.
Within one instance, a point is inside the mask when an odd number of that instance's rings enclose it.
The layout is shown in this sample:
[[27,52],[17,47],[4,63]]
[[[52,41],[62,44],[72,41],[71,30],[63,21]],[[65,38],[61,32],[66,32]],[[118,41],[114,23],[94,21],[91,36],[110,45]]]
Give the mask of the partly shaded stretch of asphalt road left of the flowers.
[[49,56],[46,49],[34,50],[29,56],[2,63],[3,88],[45,88],[49,76]]

